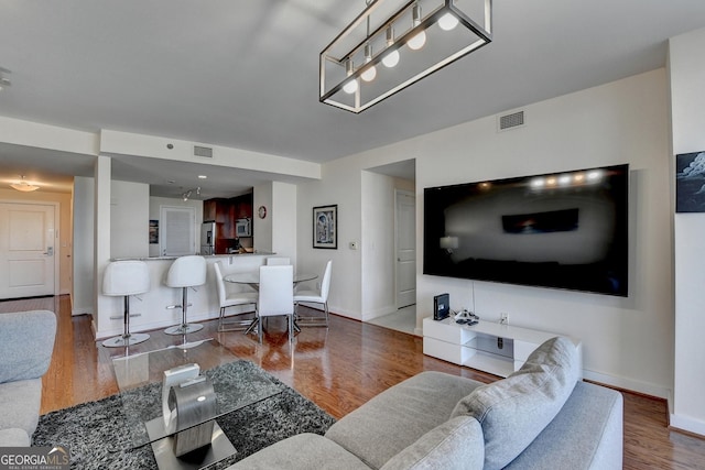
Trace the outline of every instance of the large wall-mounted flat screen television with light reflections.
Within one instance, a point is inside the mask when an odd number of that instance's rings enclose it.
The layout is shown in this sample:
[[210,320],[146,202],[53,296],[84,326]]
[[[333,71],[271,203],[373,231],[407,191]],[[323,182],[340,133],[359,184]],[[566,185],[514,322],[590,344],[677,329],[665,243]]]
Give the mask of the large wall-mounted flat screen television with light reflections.
[[424,189],[423,273],[628,295],[629,165]]

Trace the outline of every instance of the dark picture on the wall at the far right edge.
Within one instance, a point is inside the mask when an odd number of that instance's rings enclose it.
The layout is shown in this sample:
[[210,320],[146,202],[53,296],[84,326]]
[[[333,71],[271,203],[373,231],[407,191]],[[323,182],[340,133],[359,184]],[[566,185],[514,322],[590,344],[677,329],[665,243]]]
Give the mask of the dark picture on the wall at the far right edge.
[[675,155],[675,211],[705,212],[705,152]]

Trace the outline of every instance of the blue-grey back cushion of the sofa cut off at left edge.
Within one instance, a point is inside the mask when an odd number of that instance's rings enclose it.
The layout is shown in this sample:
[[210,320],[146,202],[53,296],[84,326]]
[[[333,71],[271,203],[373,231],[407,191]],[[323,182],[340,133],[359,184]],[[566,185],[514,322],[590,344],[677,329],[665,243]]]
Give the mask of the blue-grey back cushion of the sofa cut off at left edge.
[[44,375],[52,361],[55,336],[53,311],[0,314],[0,383]]

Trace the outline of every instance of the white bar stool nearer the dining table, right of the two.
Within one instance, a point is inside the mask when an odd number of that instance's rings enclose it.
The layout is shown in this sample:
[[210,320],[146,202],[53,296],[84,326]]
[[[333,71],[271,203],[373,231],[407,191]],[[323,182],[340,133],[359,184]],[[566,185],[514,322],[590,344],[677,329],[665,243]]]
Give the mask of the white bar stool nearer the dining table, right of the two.
[[181,256],[172,263],[166,273],[165,284],[169,287],[182,288],[181,305],[171,305],[166,308],[181,308],[181,325],[169,327],[164,330],[166,335],[185,335],[198,331],[203,325],[187,324],[186,311],[188,310],[188,287],[204,285],[206,283],[206,259],[197,255]]

